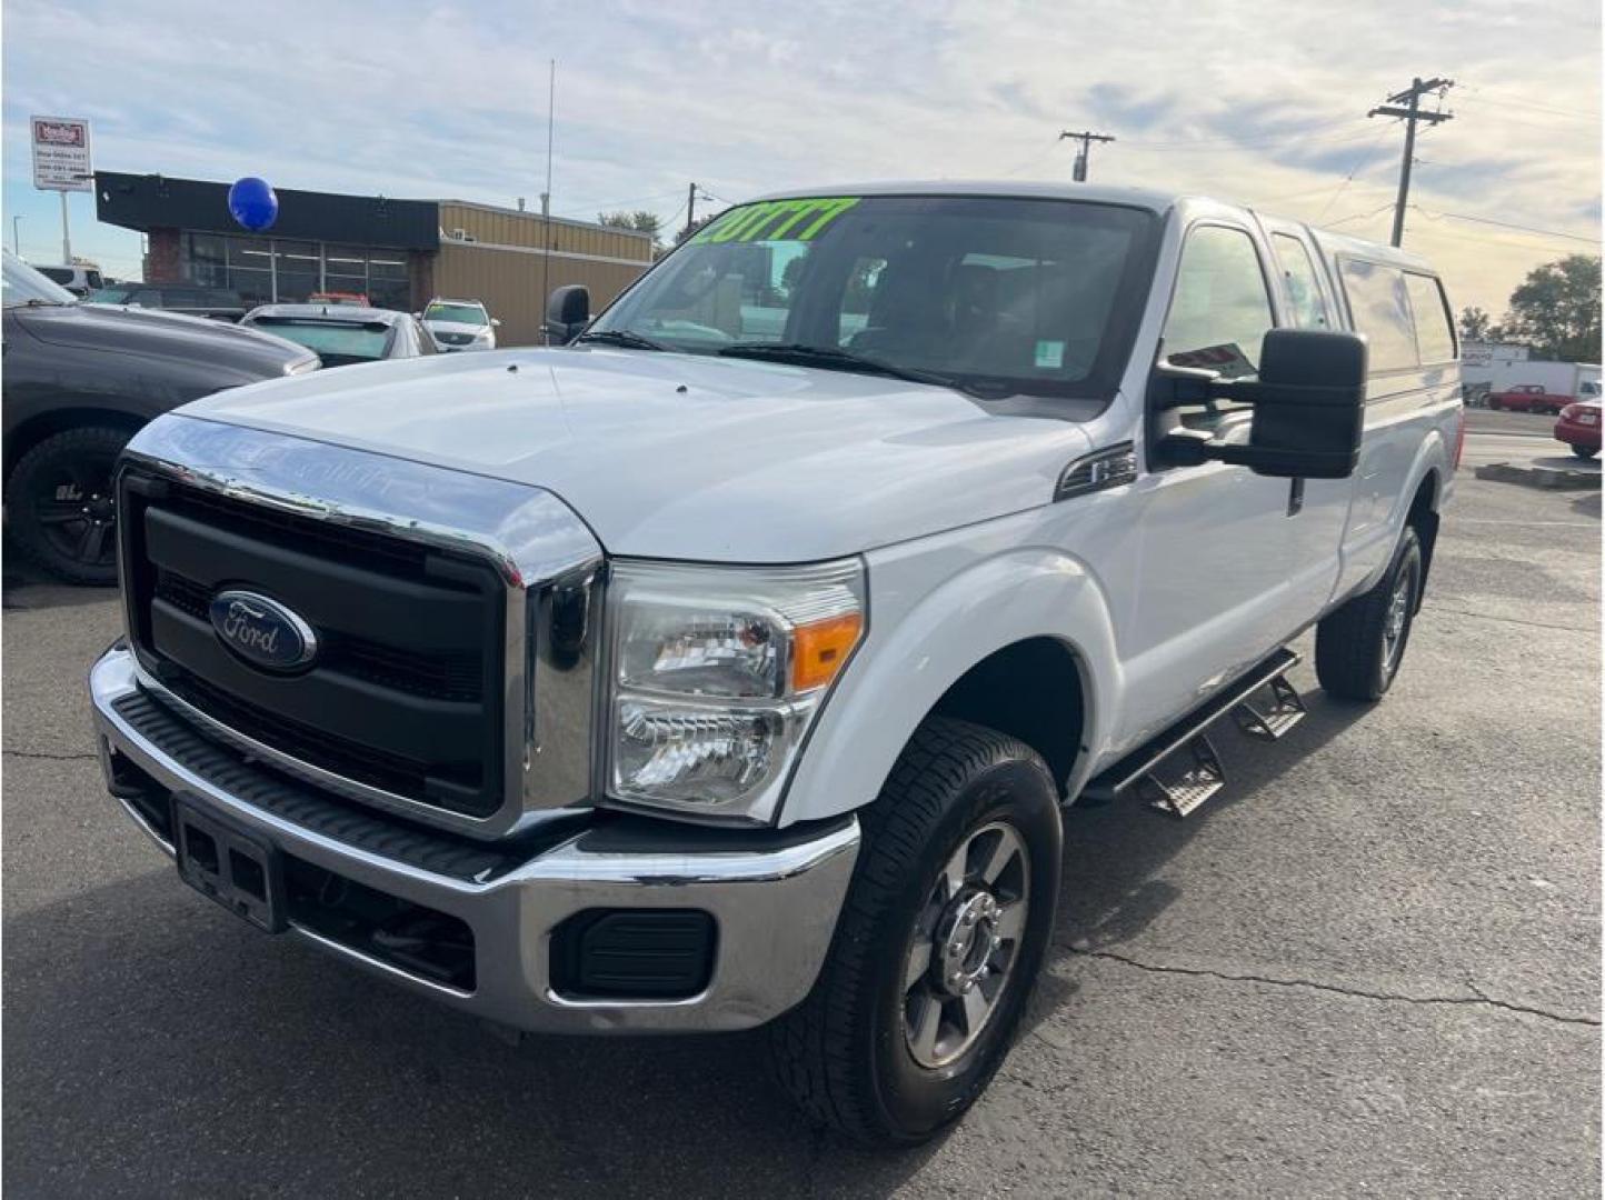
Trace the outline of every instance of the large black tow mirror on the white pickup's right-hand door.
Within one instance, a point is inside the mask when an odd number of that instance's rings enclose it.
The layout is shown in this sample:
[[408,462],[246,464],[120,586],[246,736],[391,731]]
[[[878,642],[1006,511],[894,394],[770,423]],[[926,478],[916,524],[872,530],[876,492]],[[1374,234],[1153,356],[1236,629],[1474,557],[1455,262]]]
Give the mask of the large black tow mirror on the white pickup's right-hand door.
[[1157,444],[1172,467],[1209,460],[1255,475],[1347,480],[1359,462],[1366,404],[1366,342],[1355,334],[1273,329],[1260,348],[1257,379],[1225,380],[1212,371],[1160,364],[1157,407],[1233,399],[1254,406],[1247,444],[1176,430]]

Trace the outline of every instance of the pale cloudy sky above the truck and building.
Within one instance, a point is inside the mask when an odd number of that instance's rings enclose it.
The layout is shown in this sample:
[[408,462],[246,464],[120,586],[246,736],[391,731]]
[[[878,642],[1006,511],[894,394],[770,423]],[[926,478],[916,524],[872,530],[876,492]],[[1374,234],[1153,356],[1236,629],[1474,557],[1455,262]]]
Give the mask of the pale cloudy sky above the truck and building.
[[[27,117],[93,122],[95,165],[284,188],[652,209],[872,178],[1093,178],[1242,199],[1387,239],[1403,128],[1366,111],[1449,77],[1406,245],[1502,313],[1600,226],[1597,0],[5,0],[5,236],[56,261]],[[1477,220],[1467,220],[1477,218]],[[1525,233],[1509,226],[1526,226]],[[74,252],[138,271],[138,236],[72,197]],[[1591,245],[1594,242],[1595,245]],[[10,244],[10,242],[8,242]]]

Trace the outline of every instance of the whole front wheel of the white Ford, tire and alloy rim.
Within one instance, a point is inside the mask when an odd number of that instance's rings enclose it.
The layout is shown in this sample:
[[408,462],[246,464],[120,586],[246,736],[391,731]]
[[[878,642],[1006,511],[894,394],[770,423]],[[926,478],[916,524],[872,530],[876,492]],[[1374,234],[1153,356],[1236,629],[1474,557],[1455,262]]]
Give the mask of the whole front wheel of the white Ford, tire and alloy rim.
[[1042,969],[1058,791],[1029,746],[936,717],[860,820],[830,956],[774,1024],[774,1064],[819,1121],[862,1142],[920,1142],[985,1088]]

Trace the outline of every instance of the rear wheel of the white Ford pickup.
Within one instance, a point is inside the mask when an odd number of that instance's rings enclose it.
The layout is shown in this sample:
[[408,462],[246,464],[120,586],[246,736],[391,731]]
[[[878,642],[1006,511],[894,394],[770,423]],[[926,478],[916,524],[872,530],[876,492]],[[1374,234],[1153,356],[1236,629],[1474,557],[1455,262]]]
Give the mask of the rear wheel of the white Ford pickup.
[[[1316,626],[1314,674],[1329,696],[1372,701],[1393,687],[1416,624],[1420,584],[1420,539],[1414,528],[1404,526],[1382,579]],[[1403,600],[1403,613],[1395,619],[1401,619],[1403,626],[1390,639],[1390,613],[1396,598]]]

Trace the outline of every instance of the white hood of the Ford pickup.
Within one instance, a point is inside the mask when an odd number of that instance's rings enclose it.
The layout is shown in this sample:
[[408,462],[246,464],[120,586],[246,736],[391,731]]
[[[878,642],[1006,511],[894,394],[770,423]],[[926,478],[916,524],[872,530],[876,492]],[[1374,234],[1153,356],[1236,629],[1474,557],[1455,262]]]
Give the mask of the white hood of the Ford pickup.
[[547,488],[613,553],[807,561],[1048,504],[1079,425],[942,387],[607,348],[374,363],[185,416]]

